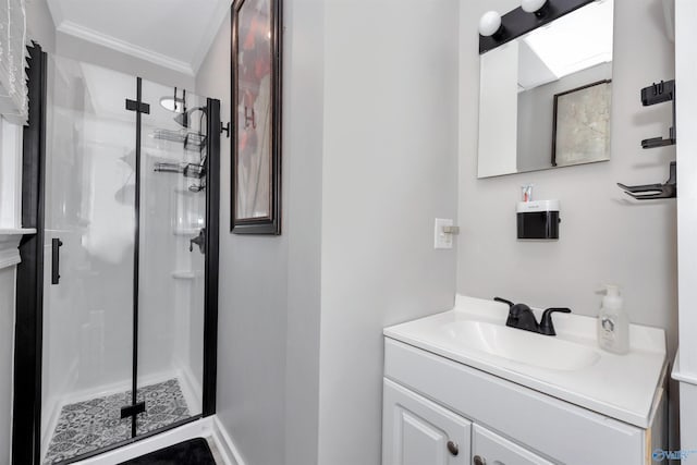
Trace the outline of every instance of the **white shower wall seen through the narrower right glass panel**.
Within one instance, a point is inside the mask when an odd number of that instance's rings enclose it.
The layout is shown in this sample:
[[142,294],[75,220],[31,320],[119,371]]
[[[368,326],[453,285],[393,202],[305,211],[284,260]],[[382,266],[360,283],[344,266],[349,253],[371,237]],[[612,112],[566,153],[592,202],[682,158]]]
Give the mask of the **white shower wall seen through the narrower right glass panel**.
[[[142,126],[138,384],[158,374],[172,374],[180,380],[192,413],[198,414],[203,392],[205,255],[191,240],[206,224],[206,192],[197,191],[205,179],[156,171],[156,167],[201,163],[205,148],[184,140],[200,134],[206,101],[191,93],[180,94],[185,99],[183,111],[188,115],[182,125],[175,121],[182,113],[158,105],[172,93],[170,87],[143,82],[143,100],[150,103],[150,112],[143,115]],[[158,136],[163,132],[170,138]]]

